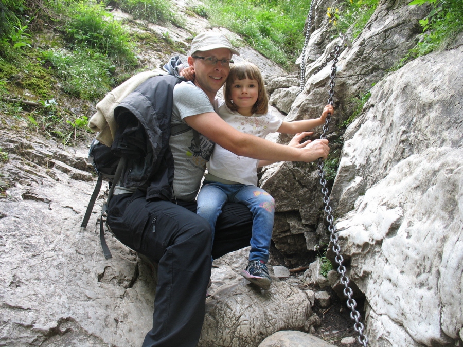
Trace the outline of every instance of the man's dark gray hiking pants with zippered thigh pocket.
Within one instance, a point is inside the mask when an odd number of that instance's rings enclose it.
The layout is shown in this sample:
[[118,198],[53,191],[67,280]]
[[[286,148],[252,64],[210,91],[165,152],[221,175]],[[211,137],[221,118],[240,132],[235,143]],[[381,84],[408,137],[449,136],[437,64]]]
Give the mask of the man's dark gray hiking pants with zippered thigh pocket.
[[[108,224],[133,250],[158,263],[153,328],[143,347],[195,347],[204,321],[211,270],[207,221],[185,207],[147,202],[144,192],[114,195]],[[190,210],[188,210],[188,209]],[[252,215],[244,205],[225,205],[217,222],[214,258],[250,245]]]

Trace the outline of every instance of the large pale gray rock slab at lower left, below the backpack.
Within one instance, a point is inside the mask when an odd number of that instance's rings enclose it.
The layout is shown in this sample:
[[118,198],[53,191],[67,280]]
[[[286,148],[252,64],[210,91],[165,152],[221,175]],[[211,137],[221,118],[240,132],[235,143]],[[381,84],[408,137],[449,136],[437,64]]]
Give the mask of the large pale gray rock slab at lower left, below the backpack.
[[86,150],[0,135],[10,157],[2,172],[21,182],[0,199],[0,343],[140,345],[151,325],[153,274],[110,236],[113,258],[104,259],[98,208],[91,227],[80,228],[94,186],[79,169]]

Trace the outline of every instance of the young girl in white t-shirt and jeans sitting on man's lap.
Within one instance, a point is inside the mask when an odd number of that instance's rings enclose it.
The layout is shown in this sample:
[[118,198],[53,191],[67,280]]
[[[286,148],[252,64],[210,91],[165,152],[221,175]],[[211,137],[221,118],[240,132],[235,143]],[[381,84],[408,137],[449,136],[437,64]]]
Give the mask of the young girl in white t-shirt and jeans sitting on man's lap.
[[[282,121],[268,112],[268,96],[259,68],[243,62],[230,68],[223,87],[225,101],[216,98],[215,109],[219,116],[235,129],[265,138],[269,133],[296,134],[325,124],[331,105],[325,106],[317,119],[294,122]],[[247,280],[263,289],[272,282],[265,263],[269,260],[275,202],[269,193],[257,187],[257,168],[268,165],[257,159],[237,156],[215,144],[208,174],[198,194],[197,213],[210,223],[212,236],[217,218],[226,202],[246,205],[253,214],[253,229],[249,263],[241,272]]]

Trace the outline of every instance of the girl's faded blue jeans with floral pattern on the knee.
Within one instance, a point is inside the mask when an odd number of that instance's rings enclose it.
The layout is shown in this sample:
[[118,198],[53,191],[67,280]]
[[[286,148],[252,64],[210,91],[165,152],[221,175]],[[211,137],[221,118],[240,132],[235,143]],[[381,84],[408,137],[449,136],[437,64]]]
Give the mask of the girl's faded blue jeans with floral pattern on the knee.
[[253,231],[249,260],[261,260],[266,263],[269,260],[275,200],[269,193],[256,186],[226,185],[205,180],[198,194],[197,213],[209,222],[212,229],[212,238],[217,218],[226,202],[240,203],[251,210],[253,214]]

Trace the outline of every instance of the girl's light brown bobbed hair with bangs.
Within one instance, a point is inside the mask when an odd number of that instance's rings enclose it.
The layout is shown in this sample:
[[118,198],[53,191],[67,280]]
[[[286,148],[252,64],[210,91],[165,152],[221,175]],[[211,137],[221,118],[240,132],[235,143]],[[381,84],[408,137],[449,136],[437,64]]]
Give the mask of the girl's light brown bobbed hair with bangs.
[[231,101],[231,85],[235,83],[235,80],[244,80],[245,78],[256,80],[257,87],[259,88],[257,101],[251,111],[259,115],[266,114],[269,109],[269,96],[265,90],[262,75],[256,65],[248,62],[241,62],[231,66],[230,74],[223,86],[223,97],[226,105],[231,111],[238,109],[238,106]]

